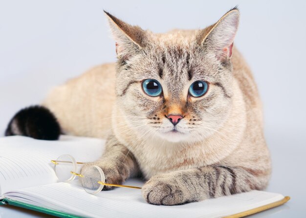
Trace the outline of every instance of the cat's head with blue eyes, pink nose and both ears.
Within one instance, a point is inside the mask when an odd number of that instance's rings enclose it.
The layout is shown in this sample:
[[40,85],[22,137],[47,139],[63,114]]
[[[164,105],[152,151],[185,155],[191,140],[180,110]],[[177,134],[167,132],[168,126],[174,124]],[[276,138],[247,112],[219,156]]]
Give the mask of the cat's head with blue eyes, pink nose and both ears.
[[227,119],[233,96],[234,8],[203,30],[153,34],[107,13],[116,40],[116,106],[130,128],[172,142],[201,140]]

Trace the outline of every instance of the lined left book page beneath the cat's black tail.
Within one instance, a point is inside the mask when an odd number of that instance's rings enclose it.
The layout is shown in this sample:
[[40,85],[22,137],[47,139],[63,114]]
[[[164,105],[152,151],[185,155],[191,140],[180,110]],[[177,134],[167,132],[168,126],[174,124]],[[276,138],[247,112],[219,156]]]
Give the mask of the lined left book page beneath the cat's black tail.
[[103,153],[105,140],[61,136],[46,141],[28,137],[0,138],[0,196],[10,190],[57,182],[54,164],[62,154],[77,161],[94,161]]

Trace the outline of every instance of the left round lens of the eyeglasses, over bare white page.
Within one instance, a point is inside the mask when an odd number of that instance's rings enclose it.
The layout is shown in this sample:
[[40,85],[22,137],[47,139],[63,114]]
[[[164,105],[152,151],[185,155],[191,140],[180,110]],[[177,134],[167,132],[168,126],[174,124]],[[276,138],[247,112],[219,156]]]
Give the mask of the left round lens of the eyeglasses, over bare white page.
[[77,164],[75,159],[71,155],[61,155],[55,164],[55,173],[59,178],[59,182],[68,182],[75,178],[72,172],[77,171]]

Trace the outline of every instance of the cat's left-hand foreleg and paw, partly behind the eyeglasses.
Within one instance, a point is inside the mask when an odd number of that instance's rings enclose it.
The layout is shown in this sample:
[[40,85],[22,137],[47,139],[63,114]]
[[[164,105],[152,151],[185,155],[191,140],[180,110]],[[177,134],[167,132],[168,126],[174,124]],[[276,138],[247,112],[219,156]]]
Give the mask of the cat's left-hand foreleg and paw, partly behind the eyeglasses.
[[[81,174],[89,171],[92,165],[101,167],[105,174],[105,182],[109,184],[122,184],[127,178],[139,173],[138,164],[132,153],[113,135],[109,136],[102,157],[95,162],[85,164]],[[90,172],[87,173],[90,174]],[[91,185],[91,183],[85,184],[87,188],[90,188]],[[103,190],[112,188],[113,186],[104,186]]]

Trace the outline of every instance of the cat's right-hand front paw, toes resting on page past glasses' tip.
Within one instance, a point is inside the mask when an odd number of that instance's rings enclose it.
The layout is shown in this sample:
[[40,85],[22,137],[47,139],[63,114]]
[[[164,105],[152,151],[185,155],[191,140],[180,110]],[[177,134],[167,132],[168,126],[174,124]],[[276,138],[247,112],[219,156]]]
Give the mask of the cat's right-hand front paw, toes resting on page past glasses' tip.
[[154,176],[143,187],[142,195],[150,204],[177,205],[190,202],[188,191],[170,176]]

